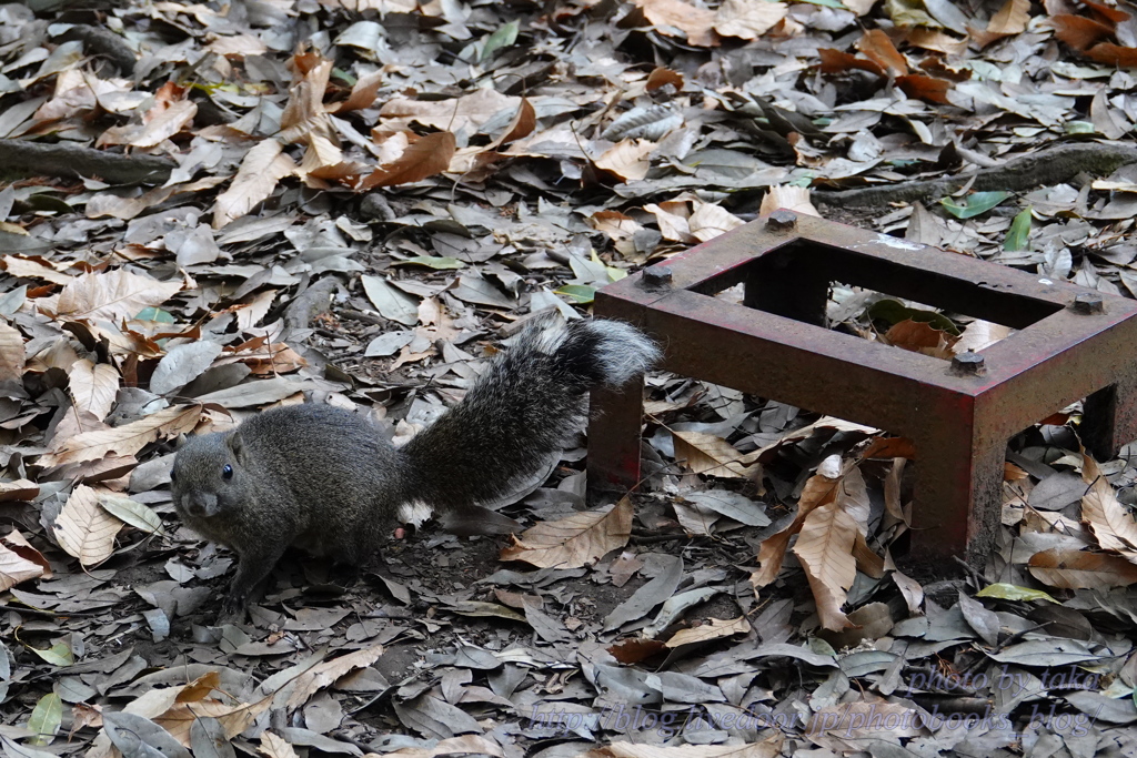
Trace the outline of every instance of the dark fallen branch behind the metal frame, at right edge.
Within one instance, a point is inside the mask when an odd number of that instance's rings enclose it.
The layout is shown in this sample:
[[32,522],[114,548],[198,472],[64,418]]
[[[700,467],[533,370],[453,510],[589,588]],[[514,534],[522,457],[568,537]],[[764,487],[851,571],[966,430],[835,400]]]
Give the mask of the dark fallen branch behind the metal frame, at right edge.
[[814,192],[815,203],[844,208],[874,208],[890,202],[928,202],[952,194],[974,180],[971,189],[977,192],[1032,190],[1053,186],[1087,173],[1094,176],[1111,174],[1121,166],[1137,163],[1137,145],[1115,142],[1074,142],[1047,148],[1012,158],[990,168],[979,168],[966,174],[937,180],[901,182],[877,186]]

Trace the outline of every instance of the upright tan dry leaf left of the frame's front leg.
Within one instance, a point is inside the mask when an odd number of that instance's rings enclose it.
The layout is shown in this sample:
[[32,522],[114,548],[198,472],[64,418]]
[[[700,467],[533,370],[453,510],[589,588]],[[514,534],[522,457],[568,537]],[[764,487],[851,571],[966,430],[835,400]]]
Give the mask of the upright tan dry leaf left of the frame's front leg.
[[794,545],[813,591],[821,626],[831,632],[852,626],[841,606],[856,578],[853,548],[857,533],[856,520],[833,501],[810,511]]

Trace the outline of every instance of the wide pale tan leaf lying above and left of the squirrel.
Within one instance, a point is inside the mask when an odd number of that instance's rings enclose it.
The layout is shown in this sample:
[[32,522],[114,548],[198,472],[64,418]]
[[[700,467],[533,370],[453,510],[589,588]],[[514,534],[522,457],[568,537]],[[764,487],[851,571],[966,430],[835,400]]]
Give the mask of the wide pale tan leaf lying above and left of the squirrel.
[[56,318],[110,322],[134,318],[143,308],[157,307],[182,290],[182,281],[159,282],[123,268],[83,274],[70,281],[58,298],[41,298],[40,307]]

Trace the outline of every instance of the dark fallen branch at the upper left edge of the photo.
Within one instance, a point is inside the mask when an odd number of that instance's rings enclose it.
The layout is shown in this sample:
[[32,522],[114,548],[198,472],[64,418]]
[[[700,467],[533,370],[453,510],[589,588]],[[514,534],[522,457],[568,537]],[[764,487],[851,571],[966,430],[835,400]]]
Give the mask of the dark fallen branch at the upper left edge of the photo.
[[18,176],[97,176],[111,184],[161,184],[177,164],[168,158],[122,155],[77,144],[0,140],[0,170]]

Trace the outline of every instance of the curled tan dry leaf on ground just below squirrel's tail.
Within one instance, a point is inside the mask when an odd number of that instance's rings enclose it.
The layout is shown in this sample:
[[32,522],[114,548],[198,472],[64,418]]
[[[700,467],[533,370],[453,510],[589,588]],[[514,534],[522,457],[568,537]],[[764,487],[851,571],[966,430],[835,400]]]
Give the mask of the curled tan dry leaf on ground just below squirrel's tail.
[[540,568],[580,568],[628,544],[632,503],[626,497],[608,510],[542,522],[514,536],[501,560],[524,560]]

